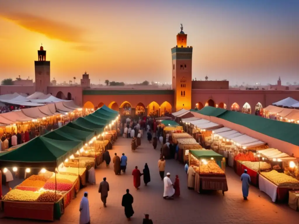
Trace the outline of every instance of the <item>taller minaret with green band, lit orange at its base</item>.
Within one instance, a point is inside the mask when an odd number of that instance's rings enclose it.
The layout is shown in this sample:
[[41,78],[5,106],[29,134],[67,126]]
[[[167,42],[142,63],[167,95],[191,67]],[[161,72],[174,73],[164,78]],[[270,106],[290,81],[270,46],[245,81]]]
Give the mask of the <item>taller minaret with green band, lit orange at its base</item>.
[[172,89],[175,91],[176,111],[191,109],[192,86],[192,46],[187,46],[187,34],[183,31],[176,35],[176,47],[171,48],[172,55]]

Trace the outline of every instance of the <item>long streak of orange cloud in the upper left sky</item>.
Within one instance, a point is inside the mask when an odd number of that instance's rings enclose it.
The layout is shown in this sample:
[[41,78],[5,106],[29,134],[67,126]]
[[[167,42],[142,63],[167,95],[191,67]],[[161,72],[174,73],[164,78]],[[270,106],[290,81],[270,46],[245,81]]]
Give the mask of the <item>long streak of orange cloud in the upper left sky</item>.
[[86,42],[83,37],[84,30],[79,27],[20,12],[0,11],[0,17],[27,30],[41,33],[50,39],[64,42]]

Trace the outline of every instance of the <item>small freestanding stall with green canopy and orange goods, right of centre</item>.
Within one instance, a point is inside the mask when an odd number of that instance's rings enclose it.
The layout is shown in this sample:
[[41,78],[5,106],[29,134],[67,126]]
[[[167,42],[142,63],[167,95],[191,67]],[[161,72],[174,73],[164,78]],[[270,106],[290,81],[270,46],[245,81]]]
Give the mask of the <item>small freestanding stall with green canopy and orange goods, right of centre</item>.
[[228,191],[226,176],[224,171],[217,164],[222,161],[223,156],[212,150],[190,150],[189,165],[193,165],[196,172],[195,190],[202,192],[205,190]]

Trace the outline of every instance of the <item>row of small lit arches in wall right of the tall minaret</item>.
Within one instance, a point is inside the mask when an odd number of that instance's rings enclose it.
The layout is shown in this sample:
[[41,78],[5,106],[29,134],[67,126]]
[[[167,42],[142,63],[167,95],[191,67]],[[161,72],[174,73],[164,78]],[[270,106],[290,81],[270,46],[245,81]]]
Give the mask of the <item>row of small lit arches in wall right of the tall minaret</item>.
[[[201,110],[202,108],[206,107],[206,106],[210,106],[210,107],[217,107],[217,108],[222,108],[222,109],[227,109],[227,110],[231,110],[231,111],[239,111],[239,112],[242,112],[242,113],[248,113],[248,114],[251,114],[251,106],[249,105],[249,103],[245,103],[242,108],[240,108],[239,104],[237,104],[236,102],[234,102],[230,108],[227,108],[227,105],[223,102],[219,103],[218,104],[215,104],[215,102],[212,100],[212,99],[209,99],[206,103],[205,103],[205,106],[201,103],[201,102],[198,102],[196,103],[195,107],[198,109],[198,110]],[[258,115],[258,114],[261,114],[262,111],[263,111],[263,105],[258,102],[255,107],[254,107],[254,111],[255,111],[255,114]]]

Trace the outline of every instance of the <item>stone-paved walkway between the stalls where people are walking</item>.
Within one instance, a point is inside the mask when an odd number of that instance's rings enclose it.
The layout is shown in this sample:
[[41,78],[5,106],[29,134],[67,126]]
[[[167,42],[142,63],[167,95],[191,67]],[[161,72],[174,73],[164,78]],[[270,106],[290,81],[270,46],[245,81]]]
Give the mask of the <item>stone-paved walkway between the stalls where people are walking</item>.
[[[60,220],[54,223],[74,224],[79,223],[79,205],[83,193],[89,193],[89,206],[91,224],[121,224],[121,223],[142,223],[144,214],[149,214],[154,224],[179,224],[179,223],[271,223],[271,224],[293,224],[298,223],[299,213],[293,211],[287,205],[277,205],[271,202],[271,199],[260,192],[257,188],[251,186],[248,201],[242,197],[241,181],[237,174],[231,168],[226,169],[228,180],[228,191],[225,196],[222,192],[211,194],[198,194],[195,191],[187,189],[187,177],[184,166],[174,160],[166,161],[166,172],[171,173],[171,179],[174,182],[175,175],[179,175],[181,184],[181,196],[174,200],[163,199],[163,181],[158,172],[158,158],[160,155],[160,145],[154,150],[152,145],[142,139],[142,144],[135,152],[131,151],[130,139],[119,138],[113,150],[110,150],[110,156],[114,153],[121,156],[125,153],[128,157],[128,167],[126,174],[116,176],[113,172],[113,163],[110,168],[105,164],[96,169],[96,185],[88,185],[81,189],[77,198],[73,200],[65,209],[65,214]],[[151,182],[144,186],[141,177],[141,187],[136,191],[133,186],[132,170],[137,165],[141,170],[147,162],[151,174]],[[99,183],[103,177],[107,178],[110,185],[110,191],[107,198],[107,208],[103,207],[98,194]],[[124,208],[121,206],[122,195],[126,189],[134,197],[133,209],[135,214],[132,220],[128,222],[124,214]],[[0,224],[27,224],[27,223],[45,223],[30,220],[0,219]]]

